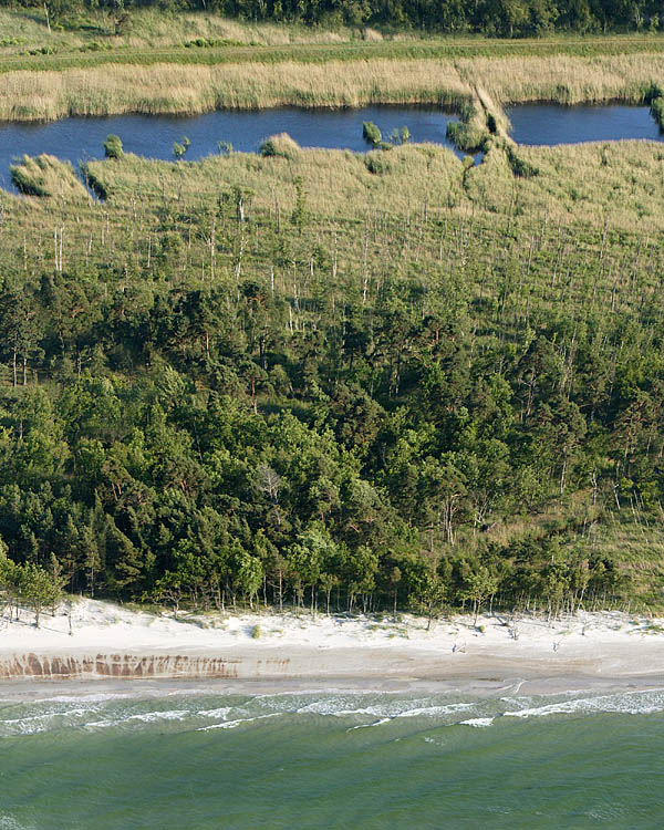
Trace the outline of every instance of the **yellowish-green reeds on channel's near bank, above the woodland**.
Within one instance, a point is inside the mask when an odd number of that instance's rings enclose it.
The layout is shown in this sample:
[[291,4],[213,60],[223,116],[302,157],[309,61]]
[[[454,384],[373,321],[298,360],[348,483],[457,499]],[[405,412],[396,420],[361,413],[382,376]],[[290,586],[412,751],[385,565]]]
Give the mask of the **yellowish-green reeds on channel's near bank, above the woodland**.
[[661,210],[664,152],[651,143],[620,142],[560,147],[519,147],[518,158],[537,175],[515,175],[508,153],[491,146],[484,164],[464,170],[448,149],[403,145],[367,156],[347,151],[299,149],[288,137],[272,139],[270,157],[236,153],[194,163],[152,162],[125,156],[113,164],[91,162],[91,178],[110,194],[108,204],[129,203],[136,193],[158,200],[209,199],[220,187],[253,193],[253,205],[284,216],[295,205],[293,180],[307,190],[310,212],[340,221],[367,212],[408,215],[427,205],[432,215],[449,210],[548,217],[602,232],[605,226],[640,234],[664,231]]

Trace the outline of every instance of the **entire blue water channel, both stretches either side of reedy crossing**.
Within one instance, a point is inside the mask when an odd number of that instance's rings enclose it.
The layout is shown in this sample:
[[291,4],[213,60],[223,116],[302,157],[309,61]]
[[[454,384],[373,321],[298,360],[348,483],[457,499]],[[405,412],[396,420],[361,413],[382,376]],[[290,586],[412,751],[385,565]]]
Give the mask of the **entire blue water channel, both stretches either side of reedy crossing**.
[[[519,104],[507,108],[511,135],[518,144],[556,145],[580,142],[642,138],[664,141],[664,134],[646,106]],[[101,158],[105,137],[113,133],[125,152],[147,158],[174,159],[173,145],[189,139],[185,158],[196,160],[219,152],[227,143],[235,151],[256,153],[261,142],[288,133],[302,147],[350,149],[364,153],[369,145],[362,123],[376,124],[383,138],[407,127],[413,142],[429,142],[465,155],[446,137],[447,124],[456,116],[434,107],[365,106],[357,110],[221,111],[193,116],[118,115],[72,117],[56,122],[0,124],[0,187],[12,189],[10,164],[27,154],[49,153],[79,162]],[[480,160],[480,156],[476,163]]]

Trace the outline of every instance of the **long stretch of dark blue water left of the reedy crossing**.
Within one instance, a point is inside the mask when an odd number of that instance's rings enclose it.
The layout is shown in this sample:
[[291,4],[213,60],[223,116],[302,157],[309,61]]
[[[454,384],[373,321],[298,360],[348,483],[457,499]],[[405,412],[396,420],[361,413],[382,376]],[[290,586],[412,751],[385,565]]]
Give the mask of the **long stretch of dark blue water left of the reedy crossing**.
[[[64,118],[48,123],[0,125],[0,176],[9,178],[9,165],[23,154],[49,153],[69,159],[101,158],[110,133],[118,135],[126,153],[148,158],[174,158],[174,142],[190,141],[188,160],[218,152],[219,142],[230,142],[243,153],[258,151],[263,138],[288,133],[302,147],[351,149],[363,153],[369,145],[362,137],[362,122],[372,121],[387,139],[393,129],[407,126],[413,142],[430,142],[452,147],[446,138],[447,123],[454,116],[440,110],[407,106],[366,106],[360,110],[222,111],[176,117],[170,115],[120,115],[107,118]],[[457,152],[457,151],[455,151]],[[463,155],[457,152],[457,155]]]

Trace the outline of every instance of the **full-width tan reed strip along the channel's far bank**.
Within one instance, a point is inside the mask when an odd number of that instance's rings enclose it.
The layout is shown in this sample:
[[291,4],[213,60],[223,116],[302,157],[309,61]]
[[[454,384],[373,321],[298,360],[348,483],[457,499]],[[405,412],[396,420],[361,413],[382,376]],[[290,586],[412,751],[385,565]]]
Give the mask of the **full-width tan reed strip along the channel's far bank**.
[[664,55],[333,61],[325,64],[110,65],[2,77],[0,118],[201,113],[270,106],[428,103],[459,107],[481,87],[497,102],[641,102],[664,83]]

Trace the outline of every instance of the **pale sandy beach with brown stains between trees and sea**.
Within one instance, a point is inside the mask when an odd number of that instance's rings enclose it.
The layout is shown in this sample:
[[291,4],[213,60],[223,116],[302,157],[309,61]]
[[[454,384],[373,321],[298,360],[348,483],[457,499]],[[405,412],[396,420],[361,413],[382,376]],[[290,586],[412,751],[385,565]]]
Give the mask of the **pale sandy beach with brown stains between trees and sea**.
[[[343,685],[556,693],[664,685],[664,626],[618,612],[541,618],[308,613],[162,615],[81,600],[72,612],[0,621],[0,677],[94,682],[205,678],[232,689]],[[39,685],[39,684],[38,684]]]

